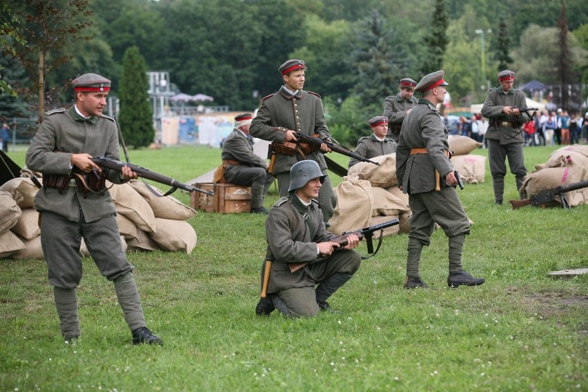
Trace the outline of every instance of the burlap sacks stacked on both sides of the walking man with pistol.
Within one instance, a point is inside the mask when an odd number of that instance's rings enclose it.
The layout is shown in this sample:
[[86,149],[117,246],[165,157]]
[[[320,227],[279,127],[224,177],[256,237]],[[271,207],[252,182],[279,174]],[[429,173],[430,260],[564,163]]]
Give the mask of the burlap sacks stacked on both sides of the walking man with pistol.
[[[454,156],[451,162],[462,175],[464,182],[484,182],[486,157],[470,155],[482,144],[464,136],[449,138],[449,149]],[[396,177],[396,154],[382,155],[371,159],[380,166],[360,162],[349,168],[344,182],[335,187],[337,206],[331,218],[329,231],[341,235],[367,226],[398,219],[400,224],[384,229],[383,235],[409,233],[409,195],[398,189]],[[380,233],[374,233],[379,237]]]

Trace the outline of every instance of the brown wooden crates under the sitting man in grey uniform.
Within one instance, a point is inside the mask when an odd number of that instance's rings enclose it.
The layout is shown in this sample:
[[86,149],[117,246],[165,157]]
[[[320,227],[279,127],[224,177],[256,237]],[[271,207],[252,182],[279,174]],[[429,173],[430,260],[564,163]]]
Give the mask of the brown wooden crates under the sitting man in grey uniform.
[[215,195],[190,193],[190,207],[207,213],[248,213],[251,210],[251,186],[236,184],[213,184],[202,182],[192,184],[196,188],[212,190]]

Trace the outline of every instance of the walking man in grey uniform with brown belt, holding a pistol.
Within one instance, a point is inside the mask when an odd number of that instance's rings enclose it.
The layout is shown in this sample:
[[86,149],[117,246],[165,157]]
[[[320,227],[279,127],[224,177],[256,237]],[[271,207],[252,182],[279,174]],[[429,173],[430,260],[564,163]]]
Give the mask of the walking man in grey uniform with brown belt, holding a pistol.
[[409,194],[412,210],[404,288],[427,287],[420,278],[420,255],[422,247],[431,244],[435,222],[449,237],[447,285],[484,283],[484,279],[471,277],[462,268],[469,219],[455,190],[458,181],[447,152],[448,131],[436,108],[446,92],[443,75],[442,70],[433,72],[415,87],[415,91],[422,93],[422,98],[404,119],[396,149],[398,187]]

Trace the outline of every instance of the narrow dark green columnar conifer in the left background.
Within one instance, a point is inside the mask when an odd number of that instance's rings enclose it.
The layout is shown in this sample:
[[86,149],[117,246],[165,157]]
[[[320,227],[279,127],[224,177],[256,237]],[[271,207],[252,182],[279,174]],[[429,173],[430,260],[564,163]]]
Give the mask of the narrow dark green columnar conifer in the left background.
[[155,138],[148,88],[145,59],[139,53],[139,48],[132,46],[126,50],[123,59],[123,72],[118,90],[118,121],[124,141],[135,148],[148,146]]

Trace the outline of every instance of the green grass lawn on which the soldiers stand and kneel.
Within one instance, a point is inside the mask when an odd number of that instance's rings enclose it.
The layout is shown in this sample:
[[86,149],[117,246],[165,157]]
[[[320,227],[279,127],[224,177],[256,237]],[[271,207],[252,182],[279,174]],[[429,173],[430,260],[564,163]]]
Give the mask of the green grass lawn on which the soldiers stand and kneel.
[[[527,168],[554,149],[525,148]],[[24,155],[9,153],[20,165]],[[130,159],[188,181],[215,168],[220,150],[131,150]],[[342,313],[308,320],[255,316],[264,217],[198,213],[192,254],[128,253],[162,347],[131,346],[114,288],[89,258],[82,336],[63,344],[45,262],[1,259],[0,390],[587,391],[588,277],[547,274],[588,267],[588,206],[512,210],[514,183],[507,175],[505,204],[494,206],[487,163],[484,183],[458,190],[474,222],[463,264],[482,286],[447,288],[447,238],[436,231],[421,264],[430,288],[403,290],[407,237],[390,236],[329,300]],[[266,207],[275,200],[272,188]]]

